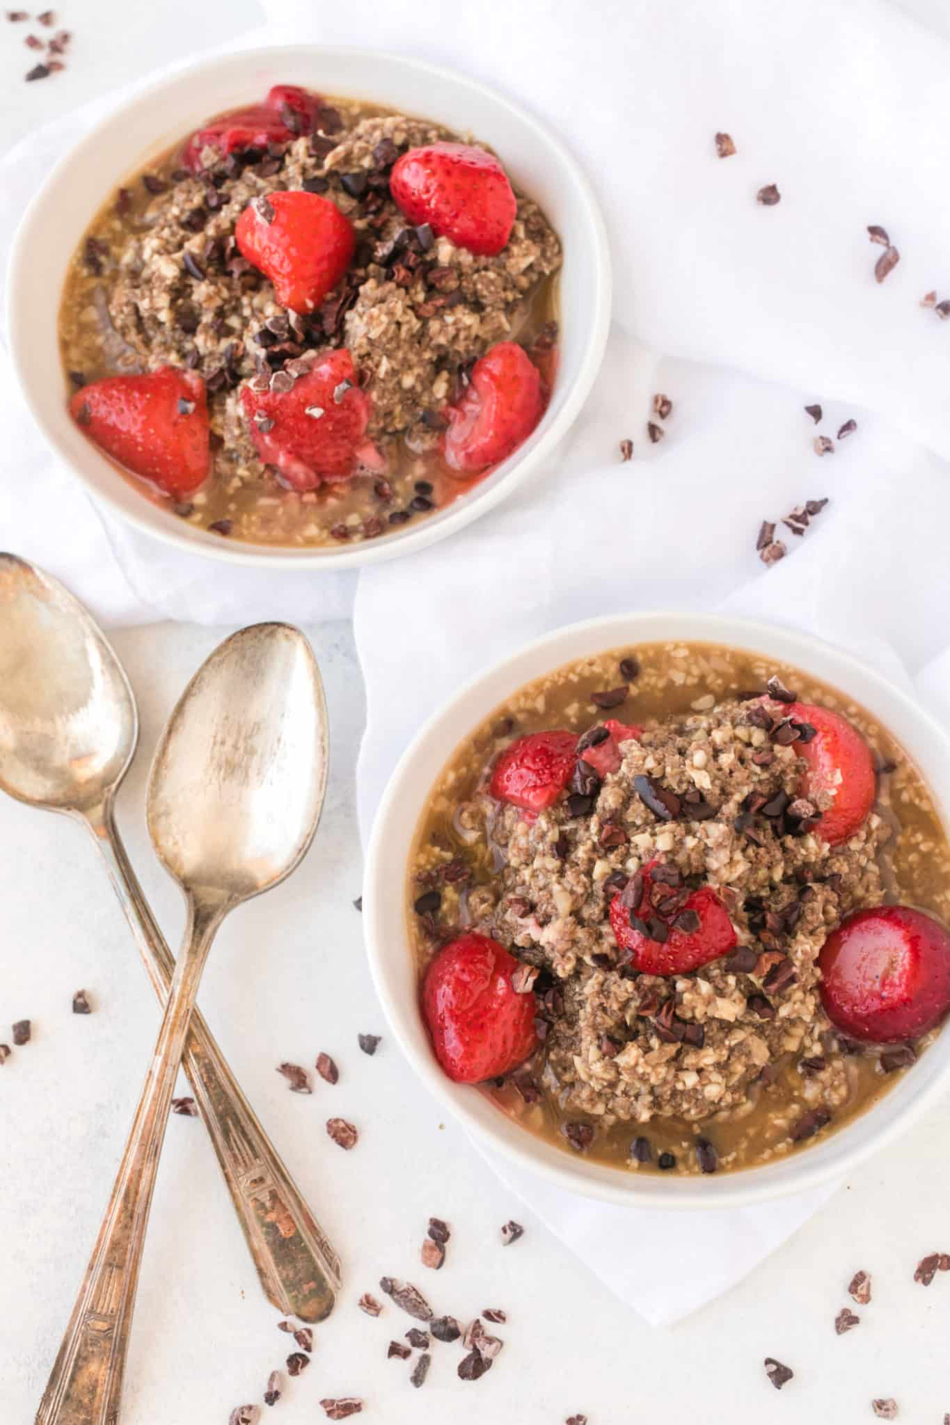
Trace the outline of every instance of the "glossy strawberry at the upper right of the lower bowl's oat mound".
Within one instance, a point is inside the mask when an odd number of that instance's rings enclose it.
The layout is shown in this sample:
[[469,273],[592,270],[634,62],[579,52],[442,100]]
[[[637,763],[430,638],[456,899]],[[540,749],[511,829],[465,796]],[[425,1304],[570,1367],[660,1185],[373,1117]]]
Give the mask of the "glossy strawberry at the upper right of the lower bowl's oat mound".
[[867,742],[847,718],[810,703],[783,708],[796,722],[810,724],[818,737],[798,741],[795,751],[808,762],[803,797],[828,792],[832,805],[822,814],[816,835],[837,845],[859,829],[877,795],[875,764]]

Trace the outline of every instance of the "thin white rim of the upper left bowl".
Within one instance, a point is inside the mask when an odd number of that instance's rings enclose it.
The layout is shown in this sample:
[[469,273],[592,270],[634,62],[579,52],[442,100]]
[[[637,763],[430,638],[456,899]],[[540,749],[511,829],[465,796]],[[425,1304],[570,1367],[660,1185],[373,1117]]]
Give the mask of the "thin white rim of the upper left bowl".
[[[348,57],[365,60],[367,64],[395,64],[397,67],[416,71],[423,81],[427,76],[447,81],[489,100],[491,104],[496,104],[503,110],[507,110],[516,121],[533,131],[540,147],[554,151],[558,161],[564,165],[581,197],[581,207],[594,249],[591,264],[594,285],[590,294],[591,321],[584,348],[578,353],[578,373],[573,386],[564,393],[560,409],[555,412],[547,429],[541,430],[537,435],[537,439],[530,436],[526,446],[521,446],[514,452],[514,455],[508,456],[508,460],[503,462],[501,466],[491,472],[489,479],[491,479],[493,483],[490,487],[479,484],[473,490],[466,492],[466,494],[459,496],[459,499],[446,507],[444,514],[429,519],[417,526],[409,526],[397,533],[387,534],[385,539],[367,540],[366,543],[353,546],[352,549],[299,550],[293,547],[268,547],[238,540],[228,543],[224,539],[199,542],[194,537],[189,539],[182,534],[171,522],[155,520],[152,523],[145,514],[145,509],[148,509],[147,499],[142,499],[144,510],[140,513],[137,506],[128,507],[118,499],[118,496],[113,497],[110,490],[98,486],[94,487],[85,473],[77,467],[71,453],[66,449],[57,433],[47,429],[43,412],[38,408],[38,402],[34,399],[31,383],[26,379],[19,359],[19,352],[24,349],[30,341],[30,311],[28,302],[26,301],[26,288],[20,282],[20,274],[30,265],[31,228],[37,218],[37,212],[48,201],[50,192],[54,191],[63,181],[68,181],[68,172],[75,162],[77,154],[83,154],[87,148],[94,147],[103,133],[111,130],[117,121],[121,121],[122,114],[128,113],[128,110],[134,108],[138,103],[161,93],[165,87],[179,84],[182,80],[199,81],[202,74],[219,71],[229,66],[241,68],[242,66],[251,66],[261,58],[273,58],[281,54],[292,56],[295,61],[299,61],[302,57],[306,58],[312,54],[320,60]],[[518,489],[546,459],[551,457],[558,443],[564,439],[580,415],[580,410],[591,392],[594,380],[597,379],[610,332],[611,294],[612,269],[610,244],[593,185],[588,181],[580,161],[574,157],[567,144],[553,128],[550,128],[530,110],[523,108],[516,100],[499,90],[494,90],[491,86],[471,78],[470,76],[450,68],[449,66],[433,64],[429,60],[419,60],[412,56],[403,56],[389,50],[379,50],[357,44],[262,44],[241,50],[231,50],[226,54],[199,60],[191,66],[181,66],[171,74],[165,74],[161,78],[137,87],[131,97],[111,108],[104,118],[87,130],[85,134],[83,134],[83,137],[57,160],[44,182],[30,200],[20,219],[10,249],[6,289],[7,339],[23,399],[26,400],[30,415],[36,420],[44,440],[47,440],[57,456],[63,460],[68,472],[83,483],[87,493],[94,500],[104,504],[115,517],[124,520],[127,524],[131,524],[134,529],[141,530],[152,539],[160,539],[165,544],[172,544],[188,554],[197,554],[202,559],[216,559],[224,563],[244,564],[246,567],[256,569],[340,570],[362,567],[365,564],[377,564],[389,559],[400,559],[446,539],[456,530],[463,529],[466,524],[494,509],[496,504],[507,499],[508,494]],[[511,467],[506,469],[507,465]]]

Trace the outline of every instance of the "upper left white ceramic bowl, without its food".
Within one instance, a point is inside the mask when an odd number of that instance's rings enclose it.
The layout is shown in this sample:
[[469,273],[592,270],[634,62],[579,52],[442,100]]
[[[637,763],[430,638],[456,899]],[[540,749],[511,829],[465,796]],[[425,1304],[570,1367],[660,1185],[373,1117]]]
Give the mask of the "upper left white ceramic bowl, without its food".
[[[57,311],[66,268],[110,192],[209,115],[261,98],[271,84],[372,98],[471,133],[496,148],[564,245],[561,359],[537,430],[474,490],[417,526],[352,549],[295,550],[224,540],[137,490],[77,429],[58,379]],[[288,46],[182,70],[140,91],[75,144],[27,209],[9,271],[10,346],[24,396],[50,445],[93,494],[137,529],[236,564],[340,569],[410,554],[490,510],[548,459],[591,389],[610,323],[610,255],[597,202],[571,154],[531,114],[461,74],[377,50]]]

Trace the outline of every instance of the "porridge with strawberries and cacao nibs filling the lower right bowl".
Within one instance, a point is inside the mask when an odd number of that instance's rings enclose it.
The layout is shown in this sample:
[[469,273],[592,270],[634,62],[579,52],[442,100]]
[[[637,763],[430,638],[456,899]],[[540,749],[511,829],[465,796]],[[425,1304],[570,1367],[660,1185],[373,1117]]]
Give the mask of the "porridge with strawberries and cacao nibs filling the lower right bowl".
[[950,1007],[950,849],[845,695],[698,643],[585,658],[457,750],[412,852],[454,1080],[567,1151],[709,1173],[860,1113]]

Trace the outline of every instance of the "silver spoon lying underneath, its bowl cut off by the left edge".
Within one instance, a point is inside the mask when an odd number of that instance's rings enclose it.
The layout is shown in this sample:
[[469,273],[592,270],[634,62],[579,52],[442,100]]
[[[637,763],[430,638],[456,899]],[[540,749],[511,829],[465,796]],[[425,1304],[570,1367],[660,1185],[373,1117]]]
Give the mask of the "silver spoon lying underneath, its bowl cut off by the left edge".
[[[325,764],[319,674],[316,684]],[[0,554],[0,789],[88,828],[164,1005],[175,962],[113,814],[137,740],[132,690],[94,620],[48,574]],[[339,1258],[198,1012],[184,1066],[265,1295],[286,1315],[320,1321],[339,1291]]]

